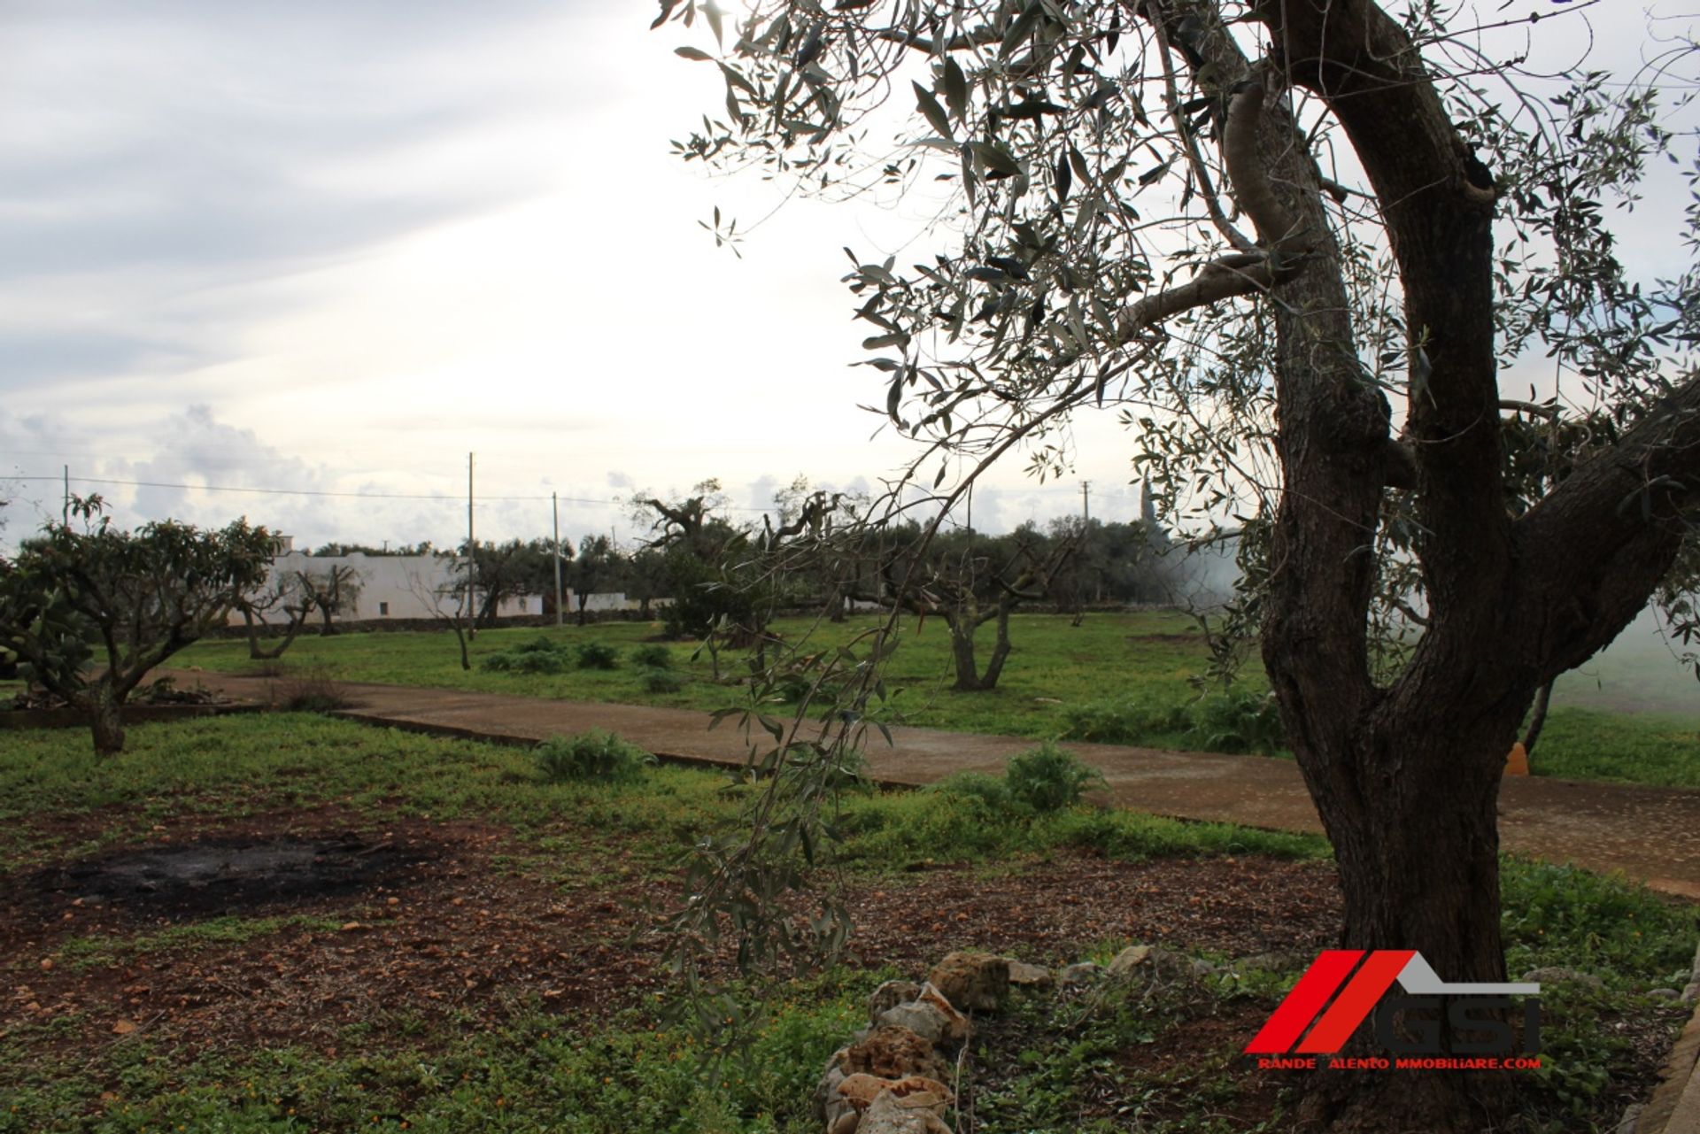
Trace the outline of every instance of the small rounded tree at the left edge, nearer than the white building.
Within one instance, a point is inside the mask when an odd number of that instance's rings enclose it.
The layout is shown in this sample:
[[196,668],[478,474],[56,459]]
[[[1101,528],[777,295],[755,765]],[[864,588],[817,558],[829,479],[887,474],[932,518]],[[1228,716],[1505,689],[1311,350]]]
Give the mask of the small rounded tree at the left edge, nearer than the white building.
[[236,520],[216,532],[175,520],[112,527],[99,496],[83,530],[49,524],[0,558],[0,646],[32,682],[88,712],[95,751],[124,750],[124,699],[148,670],[221,626],[257,588],[272,536]]

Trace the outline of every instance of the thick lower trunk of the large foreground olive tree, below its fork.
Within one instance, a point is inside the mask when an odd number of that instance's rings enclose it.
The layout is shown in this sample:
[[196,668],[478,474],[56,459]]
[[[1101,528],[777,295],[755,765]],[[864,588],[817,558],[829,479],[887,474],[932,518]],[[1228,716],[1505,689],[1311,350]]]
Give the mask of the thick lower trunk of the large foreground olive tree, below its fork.
[[[1440,687],[1436,672],[1430,656],[1409,677]],[[1431,689],[1430,700],[1397,690],[1355,719],[1348,699],[1312,699],[1294,745],[1340,869],[1340,945],[1416,949],[1454,983],[1506,979],[1496,804],[1504,751],[1533,694],[1522,689],[1520,699],[1506,672],[1479,668],[1476,685],[1499,694]],[[1368,1032],[1348,1051],[1367,1054]],[[1450,1040],[1442,1017],[1442,1047]],[[1510,1102],[1510,1081],[1484,1074],[1318,1071],[1300,1117],[1328,1131],[1394,1134],[1420,1120],[1426,1132],[1474,1134],[1493,1129]]]

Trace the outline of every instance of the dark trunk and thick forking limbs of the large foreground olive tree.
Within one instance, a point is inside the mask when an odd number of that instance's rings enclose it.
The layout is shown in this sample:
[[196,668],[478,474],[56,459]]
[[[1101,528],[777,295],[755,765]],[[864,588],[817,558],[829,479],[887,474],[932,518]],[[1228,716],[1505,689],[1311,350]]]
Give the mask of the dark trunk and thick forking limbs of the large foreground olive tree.
[[[1182,10],[1161,9],[1176,32]],[[1513,522],[1494,374],[1491,175],[1454,131],[1404,31],[1375,5],[1270,0],[1260,15],[1282,75],[1328,102],[1363,162],[1404,284],[1413,372],[1426,374],[1406,444],[1394,444],[1386,401],[1362,381],[1318,170],[1284,104],[1270,100],[1256,136],[1268,199],[1236,184],[1260,245],[1285,245],[1299,260],[1272,304],[1284,493],[1263,661],[1334,847],[1341,945],[1416,949],[1442,979],[1503,981],[1504,758],[1537,689],[1608,643],[1671,564],[1678,513],[1692,507],[1700,388],[1680,389],[1671,417],[1637,427],[1610,461]],[[1263,82],[1221,22],[1192,43],[1224,85]],[[1686,483],[1656,490],[1661,466],[1686,469]],[[1430,624],[1382,689],[1367,656],[1367,546],[1387,486],[1416,491]],[[1637,486],[1654,493],[1649,505],[1620,507]],[[1506,1081],[1491,1076],[1319,1073],[1306,1115],[1336,1131],[1464,1132],[1491,1125],[1506,1098]]]

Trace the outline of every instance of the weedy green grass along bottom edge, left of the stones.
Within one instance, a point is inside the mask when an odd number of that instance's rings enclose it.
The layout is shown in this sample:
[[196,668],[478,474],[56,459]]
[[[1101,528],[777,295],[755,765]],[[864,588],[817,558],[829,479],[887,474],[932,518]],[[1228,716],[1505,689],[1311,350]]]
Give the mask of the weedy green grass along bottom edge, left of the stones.
[[[464,1017],[410,1040],[410,1020],[374,1020],[326,1056],[308,1047],[207,1052],[192,1061],[146,1039],[116,1044],[95,1066],[32,1061],[0,1103],[0,1134],[44,1131],[571,1131],[777,1134],[811,1131],[814,1078],[862,1022],[879,972],[830,972],[765,996],[748,1059],[711,1081],[678,1027],[627,1010],[575,1025],[515,1003],[500,1022]],[[372,1035],[384,1042],[372,1044]],[[0,1061],[17,1066],[41,1039],[17,1029]],[[445,1040],[435,1042],[435,1040]],[[0,1074],[0,1081],[7,1076]],[[102,1098],[102,1093],[110,1095]],[[100,1102],[95,1102],[100,1100]],[[92,1103],[92,1105],[90,1105]]]

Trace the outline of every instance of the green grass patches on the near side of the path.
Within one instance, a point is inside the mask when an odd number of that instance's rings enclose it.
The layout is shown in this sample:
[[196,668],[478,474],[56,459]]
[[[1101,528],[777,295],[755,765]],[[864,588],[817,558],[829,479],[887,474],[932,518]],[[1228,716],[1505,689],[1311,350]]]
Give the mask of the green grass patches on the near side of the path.
[[[583,838],[624,831],[648,869],[666,869],[680,845],[733,830],[746,796],[728,791],[722,775],[678,767],[648,768],[629,782],[549,782],[530,750],[313,714],[143,724],[129,738],[126,753],[97,760],[80,731],[8,736],[0,746],[3,869],[92,848],[56,840],[53,831],[66,816],[92,816],[102,828],[95,842],[105,843],[141,836],[155,823],[238,819],[333,802],[374,818],[400,813],[503,823],[532,850],[503,869],[586,886],[598,882],[573,865]],[[581,816],[595,816],[593,830],[586,831]],[[926,859],[1012,865],[1059,847],[1119,859],[1326,853],[1326,845],[1309,836],[1091,808],[1032,813],[976,791],[852,797],[842,828],[840,864],[858,872],[901,870]],[[1566,966],[1605,981],[1598,993],[1554,996],[1561,1008],[1549,1034],[1554,1061],[1537,1102],[1544,1114],[1564,1107],[1603,1114],[1606,1102],[1617,1105],[1606,1093],[1634,1052],[1598,1020],[1669,1012],[1647,1001],[1644,989],[1678,983],[1693,949],[1695,911],[1612,879],[1516,860],[1504,864],[1504,893],[1513,974]],[[328,928],[301,916],[223,916],[131,937],[71,937],[56,955],[73,969],[134,964],[160,950],[206,950],[211,957],[296,925]],[[36,961],[0,961],[0,969],[27,979]],[[343,1029],[333,1047],[284,1042],[241,1051],[184,1051],[138,1034],[94,1054],[71,1054],[66,1040],[80,1029],[76,1018],[24,1022],[0,1032],[0,1134],[813,1131],[808,1100],[819,1068],[864,1022],[865,995],[884,976],[891,972],[831,971],[741,986],[740,1001],[758,1010],[758,1023],[743,1057],[726,1063],[719,1078],[704,1073],[695,1040],[668,1022],[663,1003],[563,1017],[510,998],[476,1017],[432,1020],[398,1005],[384,1018]],[[1200,1117],[1236,1105],[1234,1088],[1219,1074],[1226,1056],[1221,1068],[1210,1059],[1195,1064],[1185,1081],[1141,1078],[1127,1069],[1127,1056],[1188,1020],[1266,1015],[1295,976],[1212,978],[1180,1000],[1112,1003],[1091,1020],[1078,1012],[1057,1015],[1049,1001],[1027,1003],[1010,1017],[1015,1047],[1001,1056],[986,1051],[981,1059],[996,1068],[976,1086],[981,1117],[994,1119],[983,1129],[1085,1129],[1069,1115],[1105,1097],[1146,1107],[1141,1129],[1158,1134],[1246,1129]],[[1180,1102],[1170,1105],[1171,1098]]]

